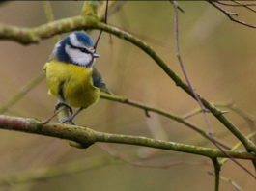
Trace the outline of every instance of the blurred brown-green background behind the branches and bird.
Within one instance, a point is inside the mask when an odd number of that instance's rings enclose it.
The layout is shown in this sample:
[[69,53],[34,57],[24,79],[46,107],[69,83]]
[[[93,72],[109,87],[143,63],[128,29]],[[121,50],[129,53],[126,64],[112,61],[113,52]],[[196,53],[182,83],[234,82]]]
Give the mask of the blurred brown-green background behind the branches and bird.
[[[55,19],[61,19],[80,14],[83,2],[58,1],[50,4]],[[207,2],[179,1],[179,4],[185,9],[185,14],[179,13],[181,52],[196,90],[213,102],[235,100],[242,110],[256,116],[255,30],[231,22]],[[244,8],[226,9],[239,13],[243,21],[256,24],[254,13]],[[0,20],[1,23],[23,27],[36,27],[47,22],[42,2],[1,4]],[[153,46],[170,68],[184,78],[175,52],[173,20],[173,8],[168,1],[128,1],[120,11],[108,17],[111,25],[127,30]],[[91,33],[95,41],[99,32]],[[114,36],[112,46],[109,41],[109,35],[103,33],[98,46],[101,57],[96,66],[115,95],[181,116],[198,107],[143,51]],[[0,107],[42,72],[53,45],[52,39],[28,46],[0,41]],[[45,120],[53,114],[55,103],[56,99],[47,95],[46,81],[43,80],[6,115]],[[213,144],[184,125],[156,114],[150,115],[151,118],[147,118],[143,110],[100,99],[98,104],[79,114],[75,122],[103,132],[213,148]],[[250,133],[250,128],[240,116],[232,111],[226,116],[244,134]],[[221,123],[211,115],[209,117],[216,137],[221,137],[230,146],[238,142]],[[57,122],[57,119],[53,121]],[[202,115],[189,119],[189,122],[206,129]],[[0,137],[1,177],[66,165],[76,160],[84,159],[86,162],[88,158],[98,155],[112,158],[98,145],[78,150],[71,148],[65,140],[6,130],[1,130]],[[109,144],[109,147],[126,153],[129,159],[150,160],[154,157],[154,164],[170,161],[193,164],[158,169],[134,167],[128,163],[106,164],[79,174],[1,187],[0,190],[213,190],[214,178],[207,174],[213,171],[213,166],[207,158],[134,146]],[[205,162],[208,165],[204,165]],[[253,172],[248,161],[240,162]],[[221,175],[232,178],[244,190],[255,190],[253,177],[232,162],[222,168]],[[221,181],[220,190],[236,189]]]

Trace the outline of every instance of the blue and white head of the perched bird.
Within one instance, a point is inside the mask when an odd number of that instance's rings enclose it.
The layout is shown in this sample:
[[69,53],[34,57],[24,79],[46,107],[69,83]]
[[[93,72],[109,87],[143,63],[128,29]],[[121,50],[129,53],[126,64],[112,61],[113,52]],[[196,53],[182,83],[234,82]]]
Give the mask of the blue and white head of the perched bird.
[[84,32],[71,33],[56,43],[53,54],[60,62],[86,68],[92,68],[95,59],[100,57],[95,53],[94,41]]

